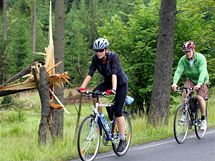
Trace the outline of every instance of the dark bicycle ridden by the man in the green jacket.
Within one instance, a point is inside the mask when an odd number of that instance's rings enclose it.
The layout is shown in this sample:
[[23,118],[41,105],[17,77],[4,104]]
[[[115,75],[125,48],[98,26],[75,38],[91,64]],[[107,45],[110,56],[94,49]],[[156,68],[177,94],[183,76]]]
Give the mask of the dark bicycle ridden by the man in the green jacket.
[[[185,100],[180,105],[174,117],[174,137],[177,143],[181,144],[187,138],[188,130],[195,127],[195,134],[198,139],[205,136],[206,130],[201,130],[201,112],[198,106],[196,96],[193,96],[193,88],[178,87],[177,92],[185,93]],[[207,101],[208,99],[206,99]],[[206,119],[207,119],[207,103],[206,103]]]

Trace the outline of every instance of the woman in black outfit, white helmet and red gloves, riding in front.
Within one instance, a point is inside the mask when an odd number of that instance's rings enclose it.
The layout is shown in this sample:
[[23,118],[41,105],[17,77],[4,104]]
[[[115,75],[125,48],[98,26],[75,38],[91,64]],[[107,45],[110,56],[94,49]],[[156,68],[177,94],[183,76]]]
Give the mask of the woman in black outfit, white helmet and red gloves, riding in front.
[[[115,94],[115,104],[108,111],[109,117],[113,120],[110,113],[114,113],[116,117],[117,126],[120,132],[120,142],[117,151],[121,152],[126,147],[125,140],[125,120],[122,116],[122,107],[125,102],[125,98],[128,91],[128,78],[121,67],[119,58],[116,53],[108,50],[109,42],[107,39],[98,38],[94,44],[93,49],[95,55],[92,58],[92,62],[89,68],[88,75],[84,79],[80,92],[86,91],[86,86],[90,82],[93,74],[96,70],[103,76],[104,82],[99,84],[95,90],[109,91],[109,93]],[[101,109],[99,109],[101,112]]]

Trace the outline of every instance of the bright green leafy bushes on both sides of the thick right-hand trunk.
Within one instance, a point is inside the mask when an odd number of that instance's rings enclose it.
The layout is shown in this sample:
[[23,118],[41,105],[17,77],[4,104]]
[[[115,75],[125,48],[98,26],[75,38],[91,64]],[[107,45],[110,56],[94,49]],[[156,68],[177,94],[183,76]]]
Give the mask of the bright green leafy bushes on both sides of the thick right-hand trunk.
[[[111,21],[99,28],[99,33],[106,35],[111,41],[112,49],[121,54],[123,65],[129,76],[129,89],[136,98],[138,109],[142,104],[149,106],[156,40],[158,32],[159,1],[143,4],[135,1],[134,10],[128,15],[128,21],[123,21],[125,14],[112,16]],[[174,70],[182,56],[181,46],[184,41],[194,40],[196,50],[208,58],[208,69],[211,84],[214,85],[214,2],[178,1],[175,33]],[[192,6],[192,9],[190,7]],[[122,16],[123,15],[123,16]],[[202,30],[204,28],[204,31]],[[123,57],[124,56],[124,57]],[[181,79],[181,81],[183,81]]]

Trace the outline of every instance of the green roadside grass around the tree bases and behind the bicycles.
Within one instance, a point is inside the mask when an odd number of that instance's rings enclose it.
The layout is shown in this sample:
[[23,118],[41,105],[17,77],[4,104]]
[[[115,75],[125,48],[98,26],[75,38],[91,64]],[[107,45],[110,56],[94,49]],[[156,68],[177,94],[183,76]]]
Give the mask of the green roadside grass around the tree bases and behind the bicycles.
[[[23,97],[22,97],[23,98]],[[38,95],[31,94],[26,98],[39,100]],[[38,103],[37,103],[38,104]],[[215,127],[215,95],[209,100],[209,127]],[[169,125],[154,128],[143,117],[131,118],[133,127],[132,145],[173,137],[173,114],[176,106],[170,111]],[[77,110],[75,106],[67,106],[70,115],[64,115],[64,138],[44,146],[38,146],[38,127],[40,108],[8,109],[0,111],[0,160],[1,161],[65,161],[77,158],[75,125]],[[82,108],[81,120],[90,113],[91,106]],[[75,142],[73,144],[73,141]],[[99,152],[111,150],[111,146],[101,143]]]

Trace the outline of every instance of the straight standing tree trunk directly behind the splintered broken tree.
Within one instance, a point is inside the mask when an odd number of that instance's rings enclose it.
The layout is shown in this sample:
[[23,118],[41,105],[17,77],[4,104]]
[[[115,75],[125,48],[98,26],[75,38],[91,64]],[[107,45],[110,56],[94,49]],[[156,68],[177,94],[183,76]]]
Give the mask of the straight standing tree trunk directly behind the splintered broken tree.
[[[64,0],[55,2],[55,62],[62,63],[56,67],[56,73],[64,72]],[[55,94],[63,103],[63,87],[55,86]],[[54,110],[54,129],[57,137],[63,137],[64,111]]]

